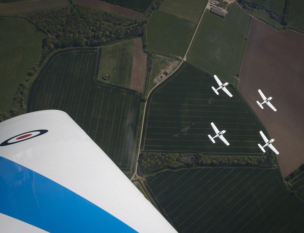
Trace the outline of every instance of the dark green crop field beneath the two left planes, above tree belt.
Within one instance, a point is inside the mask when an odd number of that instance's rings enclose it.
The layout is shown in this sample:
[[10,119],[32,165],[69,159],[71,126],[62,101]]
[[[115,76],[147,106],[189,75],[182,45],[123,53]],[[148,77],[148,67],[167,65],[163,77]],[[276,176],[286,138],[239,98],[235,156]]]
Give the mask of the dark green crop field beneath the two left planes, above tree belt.
[[[212,76],[183,64],[155,88],[145,111],[142,150],[261,156],[262,126],[234,88],[228,87],[232,98],[222,90],[217,96],[211,89],[216,85]],[[218,138],[210,141],[207,135],[215,135],[211,122],[226,130],[230,146]]]

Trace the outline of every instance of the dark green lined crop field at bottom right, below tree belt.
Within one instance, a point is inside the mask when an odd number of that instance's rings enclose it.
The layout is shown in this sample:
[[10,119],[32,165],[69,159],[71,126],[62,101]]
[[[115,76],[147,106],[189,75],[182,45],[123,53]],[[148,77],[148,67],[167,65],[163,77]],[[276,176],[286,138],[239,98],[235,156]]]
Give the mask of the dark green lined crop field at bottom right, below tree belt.
[[195,167],[145,176],[154,202],[182,232],[302,232],[304,204],[276,168]]

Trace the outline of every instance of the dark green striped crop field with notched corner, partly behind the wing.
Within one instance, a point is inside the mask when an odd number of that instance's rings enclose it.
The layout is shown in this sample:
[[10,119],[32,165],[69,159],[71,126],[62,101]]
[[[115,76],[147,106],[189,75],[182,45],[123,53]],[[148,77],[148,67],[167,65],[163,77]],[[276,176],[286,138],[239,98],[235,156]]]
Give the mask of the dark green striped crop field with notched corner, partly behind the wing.
[[95,82],[101,51],[54,54],[31,87],[28,110],[65,111],[121,169],[135,160],[138,92]]

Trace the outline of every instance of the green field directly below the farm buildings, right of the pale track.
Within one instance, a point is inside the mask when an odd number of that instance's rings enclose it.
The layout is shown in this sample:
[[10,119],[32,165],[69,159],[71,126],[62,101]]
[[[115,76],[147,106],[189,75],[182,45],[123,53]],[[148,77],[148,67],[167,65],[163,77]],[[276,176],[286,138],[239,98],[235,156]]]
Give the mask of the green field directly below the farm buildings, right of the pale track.
[[205,12],[187,62],[235,85],[250,23],[236,3],[228,7],[226,18]]

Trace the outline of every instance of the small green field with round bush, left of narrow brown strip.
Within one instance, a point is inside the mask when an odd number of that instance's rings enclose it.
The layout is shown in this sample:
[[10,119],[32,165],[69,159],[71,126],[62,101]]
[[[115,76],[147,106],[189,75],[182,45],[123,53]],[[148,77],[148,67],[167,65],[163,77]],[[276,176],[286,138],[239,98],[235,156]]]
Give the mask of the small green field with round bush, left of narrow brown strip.
[[[130,87],[133,62],[134,40],[102,47],[98,80],[116,85]],[[103,80],[102,75],[110,76]]]

